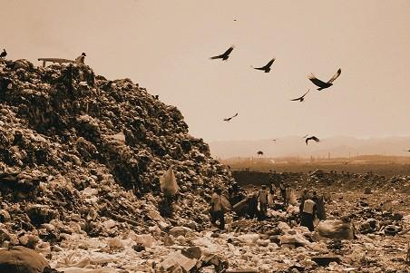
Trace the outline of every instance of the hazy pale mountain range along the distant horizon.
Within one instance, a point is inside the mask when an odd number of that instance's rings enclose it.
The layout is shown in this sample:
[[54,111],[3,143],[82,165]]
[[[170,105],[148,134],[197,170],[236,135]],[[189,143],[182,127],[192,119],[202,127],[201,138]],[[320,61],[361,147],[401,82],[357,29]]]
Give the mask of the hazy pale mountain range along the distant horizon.
[[353,157],[357,155],[380,154],[410,156],[410,137],[386,137],[358,139],[354,137],[330,137],[320,142],[309,141],[299,136],[277,138],[276,141],[212,141],[210,152],[214,157],[257,157],[263,151],[264,157]]

